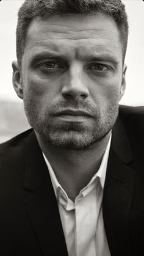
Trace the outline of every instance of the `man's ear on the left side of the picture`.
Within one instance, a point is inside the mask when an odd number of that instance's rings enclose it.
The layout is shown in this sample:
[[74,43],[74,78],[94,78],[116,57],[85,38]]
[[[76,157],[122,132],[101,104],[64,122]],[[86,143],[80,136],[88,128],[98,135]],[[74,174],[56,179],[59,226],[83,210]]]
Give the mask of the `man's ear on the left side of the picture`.
[[16,61],[12,62],[12,68],[13,68],[13,78],[12,78],[13,87],[18,97],[23,99],[23,84],[21,79],[21,73],[20,73],[20,68],[18,66],[18,63]]

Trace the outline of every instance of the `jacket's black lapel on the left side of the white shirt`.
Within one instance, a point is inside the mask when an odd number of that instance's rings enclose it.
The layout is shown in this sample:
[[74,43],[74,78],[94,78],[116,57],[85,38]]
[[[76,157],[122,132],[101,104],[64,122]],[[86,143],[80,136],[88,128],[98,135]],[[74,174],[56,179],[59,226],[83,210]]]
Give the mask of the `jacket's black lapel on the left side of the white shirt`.
[[56,197],[34,132],[25,145],[24,188],[30,192],[25,203],[43,255],[67,256]]

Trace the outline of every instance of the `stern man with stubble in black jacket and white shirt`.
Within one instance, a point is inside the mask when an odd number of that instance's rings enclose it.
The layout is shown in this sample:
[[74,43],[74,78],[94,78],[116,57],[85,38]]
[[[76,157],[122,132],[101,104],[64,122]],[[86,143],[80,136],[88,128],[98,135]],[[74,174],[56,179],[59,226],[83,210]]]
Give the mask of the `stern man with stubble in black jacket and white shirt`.
[[119,107],[127,40],[120,0],[22,5],[13,86],[33,130],[1,145],[1,255],[144,255],[144,111]]

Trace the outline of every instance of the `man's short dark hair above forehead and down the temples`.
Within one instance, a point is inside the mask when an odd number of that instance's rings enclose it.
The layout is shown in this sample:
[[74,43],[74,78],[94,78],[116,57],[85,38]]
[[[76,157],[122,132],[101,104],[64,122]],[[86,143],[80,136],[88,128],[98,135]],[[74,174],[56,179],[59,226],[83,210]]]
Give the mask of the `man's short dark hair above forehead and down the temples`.
[[123,63],[128,44],[128,16],[121,0],[26,0],[18,12],[16,27],[16,56],[21,67],[21,59],[26,46],[27,29],[34,18],[45,15],[68,14],[109,15],[115,20],[123,44]]

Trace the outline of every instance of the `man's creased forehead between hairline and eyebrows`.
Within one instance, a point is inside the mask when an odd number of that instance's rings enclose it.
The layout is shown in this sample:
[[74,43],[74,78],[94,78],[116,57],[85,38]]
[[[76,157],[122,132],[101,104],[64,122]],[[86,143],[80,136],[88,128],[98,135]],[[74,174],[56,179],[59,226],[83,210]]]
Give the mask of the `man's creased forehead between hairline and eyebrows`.
[[122,57],[117,24],[102,14],[45,16],[32,20],[24,54],[30,58],[43,50],[66,57],[105,53],[115,59]]

